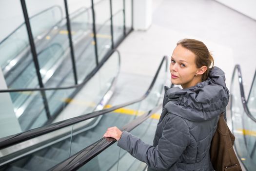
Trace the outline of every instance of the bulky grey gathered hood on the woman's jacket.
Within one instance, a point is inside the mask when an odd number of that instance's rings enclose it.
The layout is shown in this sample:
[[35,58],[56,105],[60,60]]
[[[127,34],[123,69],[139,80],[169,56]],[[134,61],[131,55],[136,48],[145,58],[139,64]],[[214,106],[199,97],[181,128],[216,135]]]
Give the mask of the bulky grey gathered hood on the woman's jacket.
[[185,89],[169,88],[165,92],[166,98],[164,107],[172,114],[194,122],[212,120],[228,105],[229,90],[225,74],[214,66],[206,81]]

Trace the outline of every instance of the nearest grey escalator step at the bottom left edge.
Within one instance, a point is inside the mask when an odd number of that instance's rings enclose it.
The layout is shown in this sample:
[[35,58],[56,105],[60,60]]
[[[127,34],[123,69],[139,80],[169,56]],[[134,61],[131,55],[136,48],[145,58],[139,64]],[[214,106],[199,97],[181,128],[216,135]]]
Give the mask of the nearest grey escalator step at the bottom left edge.
[[58,162],[35,155],[29,160],[24,168],[30,171],[47,171],[57,164]]

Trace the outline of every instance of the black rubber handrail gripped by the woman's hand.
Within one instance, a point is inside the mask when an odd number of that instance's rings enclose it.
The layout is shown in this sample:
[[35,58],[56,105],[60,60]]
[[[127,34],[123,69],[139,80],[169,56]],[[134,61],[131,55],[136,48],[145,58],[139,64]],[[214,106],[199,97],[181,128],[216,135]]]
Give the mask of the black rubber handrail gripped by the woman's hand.
[[[125,130],[130,132],[141,123],[143,123],[146,119],[152,116],[155,112],[157,112],[162,107],[162,104],[158,105],[154,109],[146,112],[145,114],[139,116],[129,124],[125,125],[121,130]],[[51,168],[49,171],[76,171],[81,168],[83,165],[88,163],[94,157],[96,157],[99,153],[107,149],[109,146],[114,144],[117,140],[114,138],[101,138],[95,143],[87,146],[85,149],[80,150],[76,154],[72,155],[68,159],[64,160],[63,162],[59,163],[58,165]]]

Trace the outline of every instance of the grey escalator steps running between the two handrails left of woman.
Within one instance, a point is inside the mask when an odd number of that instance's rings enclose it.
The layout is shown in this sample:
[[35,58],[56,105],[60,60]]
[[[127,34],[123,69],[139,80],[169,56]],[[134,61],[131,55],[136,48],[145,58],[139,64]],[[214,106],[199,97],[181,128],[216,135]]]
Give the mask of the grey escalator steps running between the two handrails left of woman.
[[[83,131],[72,138],[68,137],[59,143],[56,143],[48,148],[39,150],[32,155],[26,156],[22,162],[14,163],[5,168],[6,171],[34,171],[40,166],[40,171],[46,171],[51,167],[57,165],[59,162],[67,159],[90,144],[94,143],[102,137],[106,128],[118,125],[121,127],[124,121],[131,120],[130,115],[120,113],[108,113],[103,115],[97,126],[94,128]],[[108,156],[105,156],[108,157]],[[109,156],[111,158],[111,156]]]

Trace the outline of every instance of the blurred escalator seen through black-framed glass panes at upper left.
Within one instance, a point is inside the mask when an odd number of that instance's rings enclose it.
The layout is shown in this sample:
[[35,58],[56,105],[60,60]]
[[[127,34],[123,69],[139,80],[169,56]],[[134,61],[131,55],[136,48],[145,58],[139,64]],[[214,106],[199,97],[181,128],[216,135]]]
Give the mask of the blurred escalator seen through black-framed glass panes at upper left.
[[[97,6],[102,1],[104,0],[97,2],[95,5]],[[118,11],[113,16],[119,15],[120,12],[122,11]],[[86,77],[93,72],[100,62],[98,61],[97,63],[95,55],[91,15],[92,9],[85,7],[79,8],[69,15],[79,84],[85,81]],[[47,22],[46,24],[48,25],[42,26],[41,23],[38,27],[32,27],[36,28],[36,30],[32,29],[32,31],[38,52],[39,71],[42,77],[42,83],[46,88],[74,85],[75,79],[71,64],[66,19],[63,18],[61,8],[59,6],[53,6],[31,17],[31,25],[39,24],[39,19],[45,18],[45,16],[47,18],[54,18],[55,20],[50,22],[50,24]],[[107,46],[111,43],[111,30],[108,22],[110,22],[110,19],[103,24],[96,25],[98,55],[101,61],[111,51],[109,46]],[[118,30],[119,27],[116,27],[115,29]],[[114,33],[119,34],[119,32]],[[98,36],[99,34],[105,35],[105,37]],[[26,35],[25,24],[20,25],[0,43],[0,51],[4,51],[6,54],[6,60],[1,64],[6,84],[11,89],[38,88],[39,83],[32,54],[30,53],[28,38],[20,35]],[[118,36],[114,35],[114,37]],[[20,42],[20,44],[16,44],[17,46],[13,50],[15,53],[13,51],[6,52],[6,47],[10,47],[10,44],[14,40]],[[54,121],[67,105],[66,102],[69,101],[68,99],[72,99],[78,91],[79,88],[72,88],[66,91],[52,90],[46,92],[46,97],[43,97],[39,92],[11,92],[10,95],[22,131],[37,128]],[[47,107],[45,107],[45,103],[47,103]],[[40,122],[37,122],[37,120]]]

